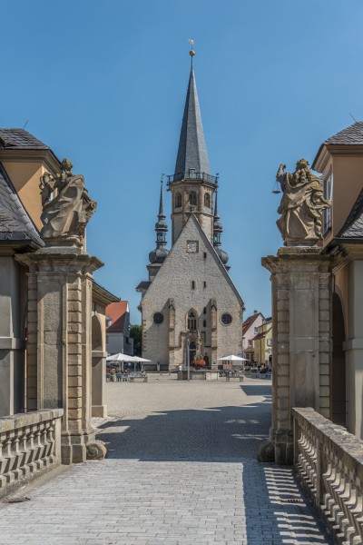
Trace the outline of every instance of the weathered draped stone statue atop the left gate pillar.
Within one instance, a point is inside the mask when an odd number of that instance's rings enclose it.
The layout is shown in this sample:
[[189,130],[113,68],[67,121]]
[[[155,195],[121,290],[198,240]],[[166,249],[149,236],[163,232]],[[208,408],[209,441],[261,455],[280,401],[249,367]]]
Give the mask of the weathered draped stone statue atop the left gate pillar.
[[41,220],[44,239],[82,240],[84,228],[96,208],[84,187],[82,174],[72,173],[73,164],[64,159],[61,173],[55,178],[44,173],[40,179],[43,213]]

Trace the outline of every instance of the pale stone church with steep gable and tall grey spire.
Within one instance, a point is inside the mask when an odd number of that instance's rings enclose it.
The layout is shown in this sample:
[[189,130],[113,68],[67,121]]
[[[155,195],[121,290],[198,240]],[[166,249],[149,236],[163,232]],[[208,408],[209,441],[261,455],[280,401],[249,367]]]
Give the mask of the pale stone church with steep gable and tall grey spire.
[[[168,176],[172,197],[172,248],[167,249],[163,183],[156,248],[149,253],[142,293],[142,356],[149,369],[175,371],[203,359],[216,370],[218,359],[242,352],[243,301],[221,248],[218,175],[211,175],[193,70],[182,118],[175,172]],[[189,354],[188,354],[189,352]],[[189,356],[189,358],[188,358]]]

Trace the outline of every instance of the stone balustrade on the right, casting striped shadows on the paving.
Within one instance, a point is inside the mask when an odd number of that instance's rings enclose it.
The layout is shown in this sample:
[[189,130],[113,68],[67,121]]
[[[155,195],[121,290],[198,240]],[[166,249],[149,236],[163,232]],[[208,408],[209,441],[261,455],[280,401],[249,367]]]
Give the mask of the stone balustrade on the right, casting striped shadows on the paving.
[[293,409],[299,478],[336,539],[363,543],[363,441],[313,409]]

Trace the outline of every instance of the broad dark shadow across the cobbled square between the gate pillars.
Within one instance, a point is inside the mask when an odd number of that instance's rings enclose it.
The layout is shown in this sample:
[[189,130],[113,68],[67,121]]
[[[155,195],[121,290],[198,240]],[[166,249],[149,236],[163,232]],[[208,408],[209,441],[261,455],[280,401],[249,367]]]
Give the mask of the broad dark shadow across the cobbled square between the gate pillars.
[[153,412],[142,419],[107,421],[100,427],[98,438],[106,442],[107,457],[113,459],[256,459],[260,443],[267,440],[270,429],[270,387],[244,386],[242,390],[248,396],[263,395],[263,401],[244,401],[240,407]]

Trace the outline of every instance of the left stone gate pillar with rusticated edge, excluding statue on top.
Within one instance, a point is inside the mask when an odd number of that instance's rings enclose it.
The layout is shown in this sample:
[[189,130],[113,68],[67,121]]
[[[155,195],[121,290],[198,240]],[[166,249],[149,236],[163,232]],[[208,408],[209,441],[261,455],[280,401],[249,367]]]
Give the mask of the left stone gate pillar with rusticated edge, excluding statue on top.
[[92,272],[103,265],[75,247],[18,256],[28,272],[28,410],[63,408],[62,462],[85,461],[92,417]]

